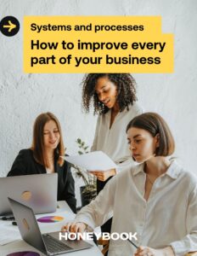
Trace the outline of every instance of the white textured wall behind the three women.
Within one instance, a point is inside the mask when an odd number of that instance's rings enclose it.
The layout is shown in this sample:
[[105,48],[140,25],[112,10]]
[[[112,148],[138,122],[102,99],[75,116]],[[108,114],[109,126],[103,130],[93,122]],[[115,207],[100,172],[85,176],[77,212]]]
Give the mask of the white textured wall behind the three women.
[[176,156],[197,173],[196,0],[0,0],[0,6],[0,19],[14,15],[21,26],[13,38],[0,34],[0,176],[7,174],[19,150],[31,145],[39,113],[58,116],[69,154],[76,153],[77,137],[91,145],[95,128],[93,114],[82,113],[83,74],[23,73],[24,15],[161,15],[162,31],[175,37],[175,72],[133,74],[138,99],[145,110],[167,120],[176,138]]

